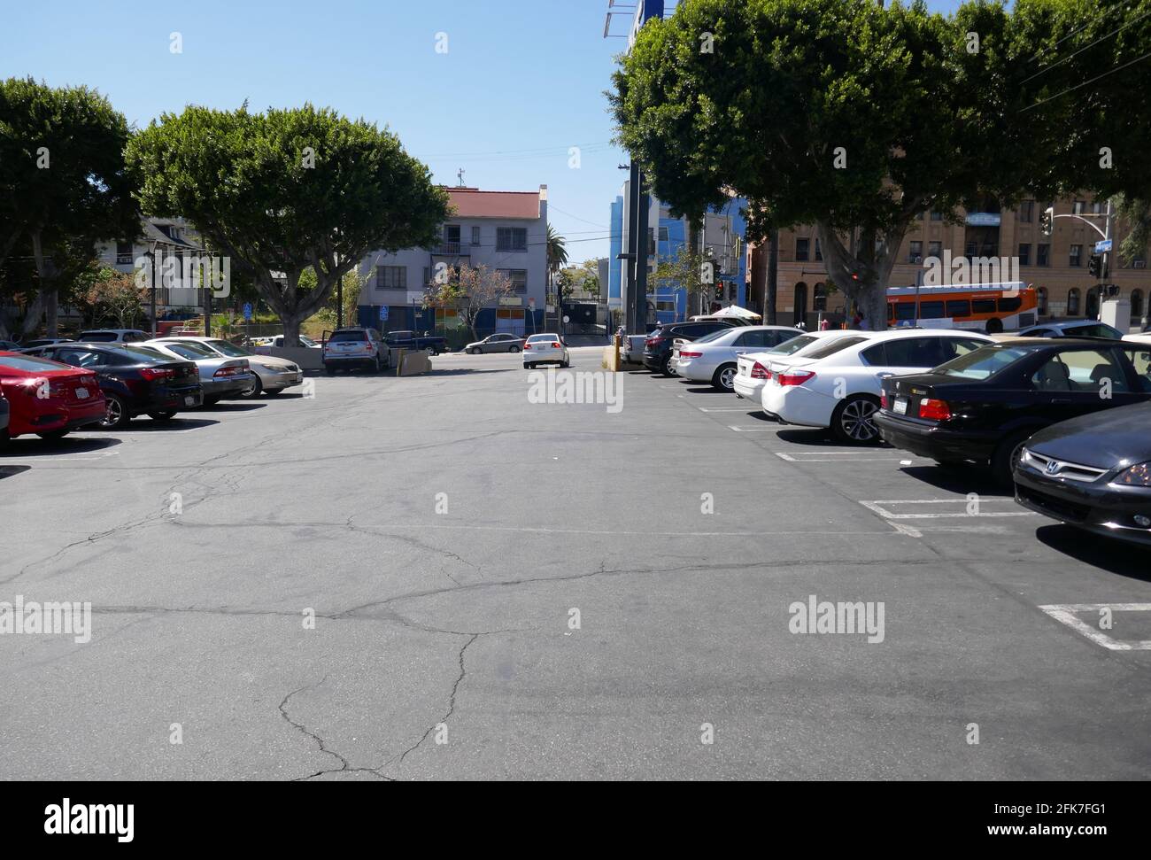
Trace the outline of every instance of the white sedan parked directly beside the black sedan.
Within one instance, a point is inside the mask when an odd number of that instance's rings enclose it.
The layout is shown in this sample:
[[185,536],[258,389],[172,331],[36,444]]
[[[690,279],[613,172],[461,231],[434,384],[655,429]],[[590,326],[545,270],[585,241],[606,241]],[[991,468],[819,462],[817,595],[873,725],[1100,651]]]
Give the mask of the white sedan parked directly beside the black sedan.
[[861,337],[830,355],[817,349],[768,368],[763,411],[784,424],[830,427],[845,444],[875,442],[884,378],[925,373],[988,343],[994,341],[976,332],[908,328]]

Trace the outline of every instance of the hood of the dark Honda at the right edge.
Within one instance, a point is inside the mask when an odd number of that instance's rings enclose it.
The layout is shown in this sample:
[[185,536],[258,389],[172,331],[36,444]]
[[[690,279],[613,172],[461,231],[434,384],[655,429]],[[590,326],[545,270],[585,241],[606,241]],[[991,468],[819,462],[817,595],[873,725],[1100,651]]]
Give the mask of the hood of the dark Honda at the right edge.
[[1151,403],[1105,409],[1042,429],[1027,447],[1045,457],[1113,469],[1151,461]]

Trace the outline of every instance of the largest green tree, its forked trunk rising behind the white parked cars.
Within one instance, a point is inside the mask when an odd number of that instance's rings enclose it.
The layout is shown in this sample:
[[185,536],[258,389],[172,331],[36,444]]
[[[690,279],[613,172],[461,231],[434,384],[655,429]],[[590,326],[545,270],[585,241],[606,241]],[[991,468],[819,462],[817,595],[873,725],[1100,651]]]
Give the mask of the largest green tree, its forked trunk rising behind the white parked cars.
[[1011,204],[1052,172],[1034,140],[1052,120],[1024,109],[1041,40],[1011,24],[988,2],[945,17],[921,1],[685,0],[643,26],[609,98],[677,213],[735,192],[753,238],[814,223],[830,280],[883,328],[918,213]]

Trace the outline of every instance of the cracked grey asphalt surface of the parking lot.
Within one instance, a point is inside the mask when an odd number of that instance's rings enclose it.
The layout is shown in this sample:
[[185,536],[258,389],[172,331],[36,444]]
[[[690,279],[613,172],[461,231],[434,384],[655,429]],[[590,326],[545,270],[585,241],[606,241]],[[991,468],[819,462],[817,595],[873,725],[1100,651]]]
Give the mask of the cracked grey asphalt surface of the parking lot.
[[[0,636],[0,770],[1151,775],[1151,554],[709,387],[624,373],[610,410],[433,364],[15,440],[0,601],[92,634]],[[795,632],[809,601],[882,634]]]

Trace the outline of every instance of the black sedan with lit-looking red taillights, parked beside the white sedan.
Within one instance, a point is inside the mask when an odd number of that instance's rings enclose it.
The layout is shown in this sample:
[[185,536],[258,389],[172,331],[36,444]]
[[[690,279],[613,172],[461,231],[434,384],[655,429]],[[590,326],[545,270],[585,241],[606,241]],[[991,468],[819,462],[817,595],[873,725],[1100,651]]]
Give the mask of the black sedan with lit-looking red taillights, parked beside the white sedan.
[[1151,399],[1151,349],[1122,341],[1011,340],[930,373],[890,376],[875,416],[883,439],[944,464],[989,464],[1011,486],[1031,434]]

